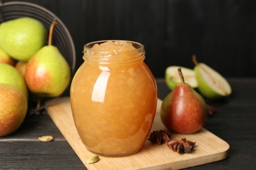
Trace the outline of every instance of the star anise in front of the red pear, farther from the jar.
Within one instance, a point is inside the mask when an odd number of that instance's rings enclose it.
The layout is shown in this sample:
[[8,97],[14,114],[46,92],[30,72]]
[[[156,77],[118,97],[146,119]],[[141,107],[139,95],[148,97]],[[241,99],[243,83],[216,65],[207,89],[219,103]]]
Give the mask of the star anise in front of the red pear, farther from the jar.
[[187,141],[186,138],[183,138],[181,140],[172,139],[171,141],[166,141],[165,144],[167,144],[167,146],[171,148],[171,150],[180,154],[192,152],[196,145],[196,143],[192,141]]

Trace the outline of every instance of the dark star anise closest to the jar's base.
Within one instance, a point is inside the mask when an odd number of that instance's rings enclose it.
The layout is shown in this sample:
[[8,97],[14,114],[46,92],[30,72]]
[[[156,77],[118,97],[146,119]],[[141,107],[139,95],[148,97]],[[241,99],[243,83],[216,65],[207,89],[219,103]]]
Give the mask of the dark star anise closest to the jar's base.
[[163,144],[170,141],[169,137],[171,137],[171,133],[169,133],[169,131],[159,130],[150,133],[148,140],[152,143]]

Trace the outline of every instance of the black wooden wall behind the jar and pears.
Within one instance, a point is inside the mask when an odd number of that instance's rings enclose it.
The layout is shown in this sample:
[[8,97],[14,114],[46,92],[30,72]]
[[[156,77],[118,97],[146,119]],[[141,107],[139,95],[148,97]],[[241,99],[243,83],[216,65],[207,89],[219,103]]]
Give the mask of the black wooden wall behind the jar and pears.
[[[3,3],[9,2],[2,0]],[[104,39],[144,44],[156,78],[169,65],[193,68],[192,54],[226,77],[256,76],[255,0],[26,0],[51,10],[83,45]]]

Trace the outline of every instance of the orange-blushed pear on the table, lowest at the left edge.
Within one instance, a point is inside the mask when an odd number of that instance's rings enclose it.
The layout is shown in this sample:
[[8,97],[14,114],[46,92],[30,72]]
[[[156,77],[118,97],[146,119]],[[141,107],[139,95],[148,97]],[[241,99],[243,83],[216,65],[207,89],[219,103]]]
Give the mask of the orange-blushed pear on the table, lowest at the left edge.
[[24,121],[27,110],[28,101],[20,90],[0,84],[0,136],[16,131]]

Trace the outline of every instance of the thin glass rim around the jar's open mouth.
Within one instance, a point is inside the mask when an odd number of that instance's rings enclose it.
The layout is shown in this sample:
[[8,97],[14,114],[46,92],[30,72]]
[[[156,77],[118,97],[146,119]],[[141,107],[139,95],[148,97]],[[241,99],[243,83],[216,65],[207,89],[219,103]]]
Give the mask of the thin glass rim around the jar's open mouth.
[[[121,41],[124,41],[124,42],[129,42],[133,45],[133,47],[135,47],[135,50],[144,50],[144,45],[141,44],[140,42],[135,42],[135,41],[127,41],[127,40],[101,40],[101,41],[93,41],[93,42],[89,42],[87,44],[85,44],[83,46],[84,50],[91,50],[91,51],[95,51],[95,52],[111,52],[111,51],[104,51],[104,50],[95,50],[95,49],[92,49],[92,47],[95,45],[95,44],[102,44],[104,42],[108,42],[108,41],[112,41],[112,42],[121,42]],[[131,51],[135,51],[135,50],[127,50],[127,51],[121,51],[121,52],[131,52]],[[121,52],[116,52],[116,53],[121,53]]]

